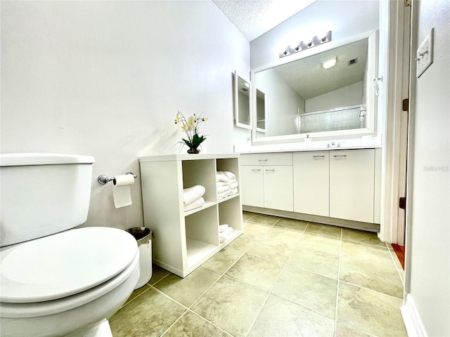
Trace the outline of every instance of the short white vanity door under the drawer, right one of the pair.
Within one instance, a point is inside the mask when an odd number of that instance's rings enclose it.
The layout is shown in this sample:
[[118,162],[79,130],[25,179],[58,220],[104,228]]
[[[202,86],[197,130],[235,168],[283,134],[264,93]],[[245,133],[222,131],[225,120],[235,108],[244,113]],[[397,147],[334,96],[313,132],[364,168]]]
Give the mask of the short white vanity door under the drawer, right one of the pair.
[[293,211],[293,166],[264,166],[264,207]]

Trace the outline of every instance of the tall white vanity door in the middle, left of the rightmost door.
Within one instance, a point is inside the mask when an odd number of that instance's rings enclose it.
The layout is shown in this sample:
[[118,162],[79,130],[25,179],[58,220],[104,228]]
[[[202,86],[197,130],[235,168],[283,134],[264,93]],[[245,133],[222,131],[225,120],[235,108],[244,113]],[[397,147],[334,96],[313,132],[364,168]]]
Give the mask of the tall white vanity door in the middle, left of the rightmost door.
[[294,153],[294,211],[330,216],[329,151]]

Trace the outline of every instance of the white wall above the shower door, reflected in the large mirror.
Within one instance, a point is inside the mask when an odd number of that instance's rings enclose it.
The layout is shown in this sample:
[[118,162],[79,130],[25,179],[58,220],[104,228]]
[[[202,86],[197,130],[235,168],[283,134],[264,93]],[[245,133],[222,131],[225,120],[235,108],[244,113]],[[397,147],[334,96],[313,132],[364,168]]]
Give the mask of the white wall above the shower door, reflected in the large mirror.
[[335,107],[352,107],[361,105],[363,97],[363,82],[359,81],[338,90],[309,98],[304,101],[304,112],[335,109]]

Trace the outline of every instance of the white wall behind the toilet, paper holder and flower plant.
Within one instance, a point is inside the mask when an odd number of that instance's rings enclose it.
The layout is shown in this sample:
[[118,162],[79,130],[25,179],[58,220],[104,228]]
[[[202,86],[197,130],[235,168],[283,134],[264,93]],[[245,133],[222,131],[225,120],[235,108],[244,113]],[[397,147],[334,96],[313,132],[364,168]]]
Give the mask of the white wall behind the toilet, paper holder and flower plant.
[[97,176],[178,153],[179,108],[209,118],[203,152],[245,143],[234,70],[250,71],[249,42],[212,1],[1,1],[1,152],[94,156],[86,225],[141,226],[140,180],[115,209]]

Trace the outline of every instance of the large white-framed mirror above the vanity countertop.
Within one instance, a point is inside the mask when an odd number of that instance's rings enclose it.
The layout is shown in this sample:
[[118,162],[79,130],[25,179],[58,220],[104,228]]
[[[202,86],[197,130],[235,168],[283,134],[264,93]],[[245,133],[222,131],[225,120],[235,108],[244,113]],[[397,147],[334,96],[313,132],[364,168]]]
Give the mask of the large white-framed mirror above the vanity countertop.
[[[252,92],[264,92],[264,132],[257,110],[253,141],[297,140],[375,132],[373,80],[377,32],[344,46],[252,72]],[[325,69],[323,63],[335,60]]]

